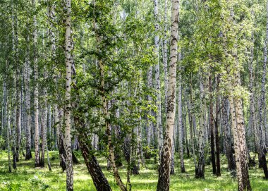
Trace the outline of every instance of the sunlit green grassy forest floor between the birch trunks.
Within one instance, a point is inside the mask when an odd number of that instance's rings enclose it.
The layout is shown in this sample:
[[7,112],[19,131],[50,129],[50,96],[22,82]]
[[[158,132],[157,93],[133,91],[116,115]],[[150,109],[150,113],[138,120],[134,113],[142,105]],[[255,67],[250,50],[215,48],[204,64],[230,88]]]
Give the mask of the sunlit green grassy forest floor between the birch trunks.
[[[74,190],[75,191],[93,191],[95,187],[92,183],[87,168],[83,163],[83,158],[79,152],[75,152],[80,164],[74,166]],[[54,160],[51,160],[52,171],[48,168],[34,168],[34,159],[25,161],[20,159],[17,171],[8,173],[8,157],[6,152],[0,152],[0,190],[22,190],[39,191],[53,190],[63,191],[66,185],[66,174],[59,167],[58,152],[50,152]],[[106,170],[106,160],[104,157],[97,157],[103,172],[108,178],[112,190],[119,190],[114,182],[111,171]],[[157,187],[157,164],[154,159],[146,161],[147,168],[140,170],[140,175],[131,175],[131,184],[133,191],[156,190]],[[221,156],[221,177],[212,175],[212,166],[206,166],[205,180],[195,179],[195,170],[193,159],[185,159],[185,169],[187,173],[180,173],[178,168],[178,159],[176,157],[175,174],[171,175],[170,190],[196,190],[196,191],[218,191],[218,190],[237,190],[236,179],[233,180],[227,171],[226,157]],[[121,178],[126,183],[126,166],[119,168]],[[268,180],[263,179],[262,169],[257,167],[250,168],[250,181],[252,190],[267,191]]]

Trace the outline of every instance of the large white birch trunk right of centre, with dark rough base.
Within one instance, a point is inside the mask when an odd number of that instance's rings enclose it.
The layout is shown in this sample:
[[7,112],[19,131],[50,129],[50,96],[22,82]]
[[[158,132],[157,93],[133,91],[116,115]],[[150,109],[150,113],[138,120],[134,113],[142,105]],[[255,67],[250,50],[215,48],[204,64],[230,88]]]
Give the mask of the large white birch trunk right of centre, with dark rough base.
[[170,63],[169,63],[169,89],[166,112],[166,134],[164,148],[159,166],[159,179],[157,191],[169,190],[170,158],[173,144],[173,128],[176,111],[176,66],[178,61],[178,13],[179,1],[173,0],[171,5],[171,37],[170,37]]

